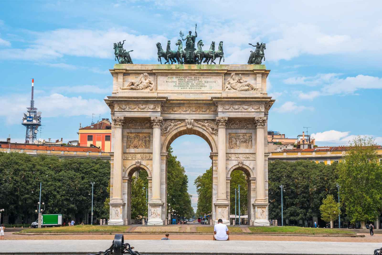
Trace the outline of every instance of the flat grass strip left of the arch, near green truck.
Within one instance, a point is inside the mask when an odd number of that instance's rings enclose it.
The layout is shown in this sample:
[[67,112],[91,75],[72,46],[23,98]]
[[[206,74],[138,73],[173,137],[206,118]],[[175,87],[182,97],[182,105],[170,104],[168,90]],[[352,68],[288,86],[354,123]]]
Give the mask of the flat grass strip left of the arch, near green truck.
[[22,232],[122,232],[128,229],[127,226],[97,226],[97,225],[77,225],[65,227],[43,227],[36,229],[24,229]]

